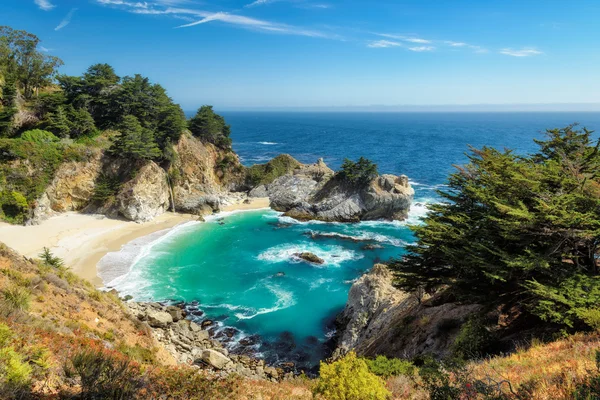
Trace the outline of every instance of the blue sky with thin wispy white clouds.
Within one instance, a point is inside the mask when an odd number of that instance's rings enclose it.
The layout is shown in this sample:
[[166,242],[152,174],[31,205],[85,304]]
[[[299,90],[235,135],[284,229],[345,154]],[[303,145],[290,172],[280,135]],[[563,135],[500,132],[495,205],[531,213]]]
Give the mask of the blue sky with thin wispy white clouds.
[[1,0],[61,73],[191,110],[600,104],[598,0]]

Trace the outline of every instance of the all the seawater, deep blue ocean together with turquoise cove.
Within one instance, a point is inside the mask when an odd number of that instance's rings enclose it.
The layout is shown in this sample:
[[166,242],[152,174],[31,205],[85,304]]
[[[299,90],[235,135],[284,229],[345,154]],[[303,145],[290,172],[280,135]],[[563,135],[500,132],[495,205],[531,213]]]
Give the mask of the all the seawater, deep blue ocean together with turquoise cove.
[[[136,240],[99,265],[107,286],[136,300],[183,301],[230,350],[309,369],[328,354],[335,316],[354,280],[399,257],[428,203],[439,201],[469,146],[537,149],[547,128],[600,129],[600,113],[222,113],[245,165],[281,153],[337,169],[365,156],[415,188],[408,221],[300,223],[271,210],[218,214]],[[316,235],[315,235],[316,234]],[[377,245],[377,249],[365,249]],[[321,266],[300,262],[310,251]]]

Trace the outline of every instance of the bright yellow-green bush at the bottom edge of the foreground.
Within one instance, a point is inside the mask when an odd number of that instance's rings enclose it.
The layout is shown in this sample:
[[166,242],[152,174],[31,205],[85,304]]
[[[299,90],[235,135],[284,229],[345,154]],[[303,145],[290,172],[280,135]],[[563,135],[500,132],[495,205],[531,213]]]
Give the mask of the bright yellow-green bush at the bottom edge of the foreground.
[[314,392],[328,400],[385,400],[390,396],[383,380],[354,352],[330,364],[321,362]]

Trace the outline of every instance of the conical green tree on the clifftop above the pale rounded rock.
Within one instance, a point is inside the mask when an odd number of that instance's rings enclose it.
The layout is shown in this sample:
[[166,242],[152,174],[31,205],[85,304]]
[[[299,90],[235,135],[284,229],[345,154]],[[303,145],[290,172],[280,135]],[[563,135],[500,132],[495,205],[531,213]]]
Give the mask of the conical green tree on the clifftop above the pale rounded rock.
[[153,132],[142,127],[133,115],[123,118],[119,134],[114,139],[109,151],[113,155],[134,160],[151,160],[161,155]]

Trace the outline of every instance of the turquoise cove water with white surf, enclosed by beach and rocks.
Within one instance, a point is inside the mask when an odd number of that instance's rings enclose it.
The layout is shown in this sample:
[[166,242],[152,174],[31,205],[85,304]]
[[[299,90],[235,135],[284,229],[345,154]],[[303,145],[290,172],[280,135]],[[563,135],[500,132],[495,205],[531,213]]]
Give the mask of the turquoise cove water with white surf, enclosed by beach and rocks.
[[[404,254],[413,237],[404,222],[298,222],[263,209],[213,215],[145,240],[131,244],[126,273],[107,286],[136,301],[185,302],[196,322],[213,322],[209,329],[230,351],[311,368],[327,355],[352,282]],[[324,264],[294,255],[305,251]],[[107,282],[110,271],[99,271]]]

